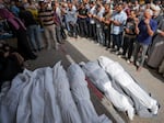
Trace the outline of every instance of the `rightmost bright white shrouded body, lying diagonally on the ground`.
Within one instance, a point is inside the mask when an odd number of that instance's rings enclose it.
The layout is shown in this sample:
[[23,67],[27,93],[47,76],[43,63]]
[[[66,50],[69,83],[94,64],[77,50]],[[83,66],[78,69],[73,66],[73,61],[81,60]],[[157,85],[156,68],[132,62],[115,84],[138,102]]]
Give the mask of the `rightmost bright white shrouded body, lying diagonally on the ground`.
[[[142,114],[149,115],[148,111],[151,110],[152,114],[157,114],[159,105],[157,101],[151,98],[139,85],[131,78],[131,76],[124,70],[124,68],[116,62],[112,62],[112,59],[101,56],[98,58],[98,63],[101,67],[110,76],[110,78],[117,82],[124,90],[128,91],[129,96],[136,101],[134,103],[141,107],[136,107],[137,113],[140,116],[144,116]],[[145,107],[149,110],[140,109]],[[142,112],[143,111],[143,112]]]

